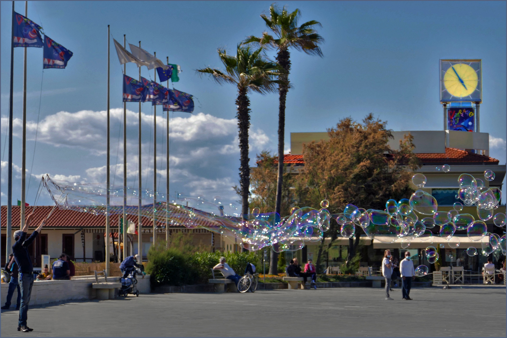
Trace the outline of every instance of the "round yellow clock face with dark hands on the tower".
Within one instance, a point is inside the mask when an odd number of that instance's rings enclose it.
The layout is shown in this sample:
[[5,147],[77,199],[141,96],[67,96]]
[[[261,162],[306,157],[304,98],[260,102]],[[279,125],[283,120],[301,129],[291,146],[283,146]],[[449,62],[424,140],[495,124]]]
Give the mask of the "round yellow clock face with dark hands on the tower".
[[449,94],[465,97],[476,90],[479,79],[474,68],[464,63],[457,63],[447,69],[443,82]]

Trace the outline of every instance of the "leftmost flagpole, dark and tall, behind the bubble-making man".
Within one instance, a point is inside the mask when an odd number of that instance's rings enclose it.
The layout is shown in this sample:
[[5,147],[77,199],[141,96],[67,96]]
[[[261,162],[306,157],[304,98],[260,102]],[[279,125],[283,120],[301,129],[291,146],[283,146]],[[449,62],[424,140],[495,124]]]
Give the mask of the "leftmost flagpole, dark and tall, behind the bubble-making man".
[[7,232],[6,232],[6,262],[9,261],[11,253],[12,238],[12,90],[14,81],[14,1],[12,2],[12,27],[11,27],[11,80],[9,92],[9,159],[7,163]]

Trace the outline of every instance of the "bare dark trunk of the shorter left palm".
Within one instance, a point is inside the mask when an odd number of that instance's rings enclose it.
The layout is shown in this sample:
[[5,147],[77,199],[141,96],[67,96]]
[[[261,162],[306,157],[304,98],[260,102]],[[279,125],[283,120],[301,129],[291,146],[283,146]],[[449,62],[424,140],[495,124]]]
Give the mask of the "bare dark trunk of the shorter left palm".
[[250,100],[246,96],[246,88],[238,90],[238,128],[239,128],[239,152],[241,166],[239,167],[239,182],[241,186],[241,214],[248,214],[248,191],[250,187],[250,167],[248,162],[248,128],[250,128]]

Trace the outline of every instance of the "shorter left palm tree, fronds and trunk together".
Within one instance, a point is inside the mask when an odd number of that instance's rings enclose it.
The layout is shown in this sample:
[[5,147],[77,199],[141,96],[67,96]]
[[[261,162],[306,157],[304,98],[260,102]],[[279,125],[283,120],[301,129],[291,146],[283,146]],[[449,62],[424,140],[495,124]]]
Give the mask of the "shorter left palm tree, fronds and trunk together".
[[239,149],[241,167],[239,179],[242,199],[242,215],[248,214],[248,190],[250,185],[250,168],[248,166],[248,128],[250,127],[250,100],[249,92],[266,94],[276,91],[276,80],[279,76],[280,66],[263,54],[263,48],[252,50],[250,47],[238,45],[236,56],[227,55],[223,49],[218,49],[219,57],[225,66],[225,72],[216,68],[197,69],[199,74],[209,74],[218,84],[231,83],[238,88],[236,98]]

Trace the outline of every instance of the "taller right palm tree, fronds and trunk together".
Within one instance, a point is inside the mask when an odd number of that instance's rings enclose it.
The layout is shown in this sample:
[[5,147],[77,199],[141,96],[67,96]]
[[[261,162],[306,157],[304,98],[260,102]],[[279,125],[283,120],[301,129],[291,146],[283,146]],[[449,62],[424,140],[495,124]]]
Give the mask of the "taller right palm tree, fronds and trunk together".
[[[243,44],[255,44],[278,50],[276,60],[284,70],[280,73],[278,86],[280,105],[278,108],[278,179],[276,182],[275,212],[280,213],[283,179],[283,138],[285,137],[285,98],[289,88],[288,74],[291,70],[291,54],[288,49],[294,48],[306,54],[322,56],[319,44],[323,43],[324,39],[314,29],[315,26],[321,26],[320,22],[311,20],[298,26],[298,18],[301,15],[299,9],[288,13],[285,6],[280,11],[273,4],[269,7],[269,13],[270,18],[264,14],[261,14],[261,18],[264,19],[274,36],[263,32],[262,37],[248,36]],[[271,252],[270,274],[276,273],[277,256],[276,252]]]

